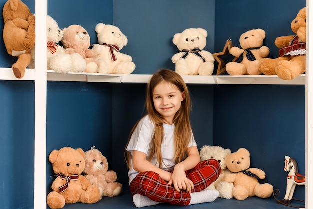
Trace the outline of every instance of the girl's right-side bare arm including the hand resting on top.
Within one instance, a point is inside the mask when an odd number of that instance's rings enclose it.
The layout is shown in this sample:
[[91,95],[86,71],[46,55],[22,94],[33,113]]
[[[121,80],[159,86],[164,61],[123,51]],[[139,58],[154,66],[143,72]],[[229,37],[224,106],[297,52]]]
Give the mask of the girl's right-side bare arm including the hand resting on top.
[[168,182],[170,185],[173,184],[176,191],[186,190],[191,192],[194,189],[193,182],[187,178],[185,171],[194,168],[200,161],[200,154],[196,146],[191,146],[187,149],[188,157],[182,162],[176,164],[174,171],[171,175],[171,179]]

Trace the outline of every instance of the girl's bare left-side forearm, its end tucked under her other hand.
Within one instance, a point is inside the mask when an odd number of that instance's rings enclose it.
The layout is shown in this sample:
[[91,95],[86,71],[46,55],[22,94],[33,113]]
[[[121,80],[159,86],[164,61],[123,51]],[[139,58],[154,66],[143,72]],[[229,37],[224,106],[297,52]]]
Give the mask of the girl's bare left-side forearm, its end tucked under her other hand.
[[151,162],[146,160],[146,154],[141,151],[132,151],[132,166],[138,172],[145,172],[145,171],[153,171],[160,175],[160,177],[165,180],[169,181],[171,178],[171,173],[165,170],[162,170]]

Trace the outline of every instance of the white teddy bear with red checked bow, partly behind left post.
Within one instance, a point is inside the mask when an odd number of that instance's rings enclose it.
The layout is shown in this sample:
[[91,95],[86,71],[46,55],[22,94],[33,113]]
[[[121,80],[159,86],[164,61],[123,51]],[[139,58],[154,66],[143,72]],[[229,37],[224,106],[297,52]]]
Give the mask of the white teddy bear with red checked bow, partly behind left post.
[[[47,16],[47,68],[60,73],[83,72],[86,69],[86,61],[78,54],[67,54],[65,49],[56,43],[63,37],[63,31],[58,27],[57,22]],[[31,51],[34,57],[34,50]],[[30,67],[34,67],[34,60]]]

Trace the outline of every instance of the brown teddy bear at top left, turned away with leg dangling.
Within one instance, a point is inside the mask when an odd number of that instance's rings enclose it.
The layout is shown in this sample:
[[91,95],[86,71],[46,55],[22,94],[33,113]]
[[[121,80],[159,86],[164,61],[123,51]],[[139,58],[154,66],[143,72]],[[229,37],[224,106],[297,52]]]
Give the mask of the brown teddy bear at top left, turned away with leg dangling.
[[18,57],[12,65],[16,78],[25,75],[35,45],[35,17],[21,0],[8,0],[3,7],[3,41],[7,53]]

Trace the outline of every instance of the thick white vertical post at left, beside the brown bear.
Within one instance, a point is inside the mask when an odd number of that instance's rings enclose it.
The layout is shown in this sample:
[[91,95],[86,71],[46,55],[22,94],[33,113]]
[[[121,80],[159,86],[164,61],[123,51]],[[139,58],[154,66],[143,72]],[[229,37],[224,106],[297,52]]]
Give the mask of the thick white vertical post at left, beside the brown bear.
[[46,208],[47,0],[35,0],[34,209]]

